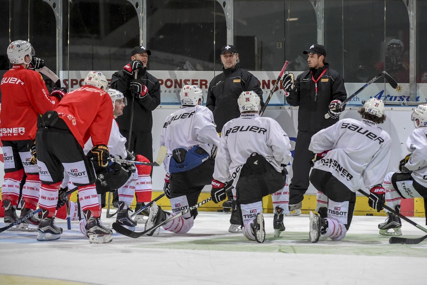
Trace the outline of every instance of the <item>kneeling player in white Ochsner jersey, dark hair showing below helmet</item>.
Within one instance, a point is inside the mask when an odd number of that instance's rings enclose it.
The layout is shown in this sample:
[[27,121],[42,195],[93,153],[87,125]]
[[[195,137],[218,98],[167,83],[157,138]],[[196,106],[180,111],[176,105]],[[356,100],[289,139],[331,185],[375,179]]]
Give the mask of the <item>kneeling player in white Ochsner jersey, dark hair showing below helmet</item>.
[[371,98],[360,108],[361,121],[341,119],[312,137],[309,149],[315,153],[315,165],[310,181],[329,201],[327,218],[310,212],[311,242],[320,236],[345,237],[359,189],[370,189],[370,205],[381,210],[377,193],[385,192],[382,178],[391,157],[390,136],[377,126],[385,120],[384,111],[382,100]]

